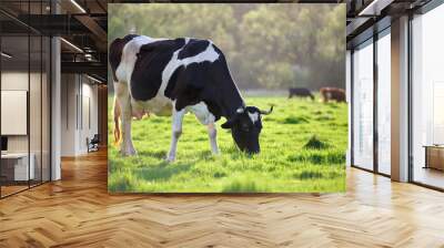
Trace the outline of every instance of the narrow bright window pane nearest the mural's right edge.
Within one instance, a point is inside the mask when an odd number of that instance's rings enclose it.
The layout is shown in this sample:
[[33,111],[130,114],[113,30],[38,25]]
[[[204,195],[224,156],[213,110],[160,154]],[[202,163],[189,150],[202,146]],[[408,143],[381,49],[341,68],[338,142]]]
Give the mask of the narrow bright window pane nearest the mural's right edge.
[[373,169],[373,40],[353,52],[353,165]]

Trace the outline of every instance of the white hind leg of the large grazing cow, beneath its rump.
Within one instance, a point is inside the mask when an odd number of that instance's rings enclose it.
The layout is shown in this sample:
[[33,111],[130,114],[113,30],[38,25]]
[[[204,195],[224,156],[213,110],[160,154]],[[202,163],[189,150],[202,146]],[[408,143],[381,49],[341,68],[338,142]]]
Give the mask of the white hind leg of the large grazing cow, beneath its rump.
[[135,154],[135,149],[131,140],[132,112],[128,85],[124,83],[115,83],[114,86],[119,97],[122,120],[122,143],[120,144],[120,153],[125,156],[132,156]]

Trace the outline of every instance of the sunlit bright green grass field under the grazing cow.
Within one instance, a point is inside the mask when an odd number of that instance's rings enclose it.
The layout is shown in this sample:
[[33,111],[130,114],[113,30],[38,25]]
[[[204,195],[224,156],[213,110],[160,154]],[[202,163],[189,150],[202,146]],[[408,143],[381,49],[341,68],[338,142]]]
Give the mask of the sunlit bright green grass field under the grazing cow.
[[[109,99],[109,141],[113,141],[112,97]],[[205,126],[192,114],[183,122],[176,161],[164,162],[171,138],[171,117],[132,122],[138,155],[122,157],[109,147],[108,187],[111,193],[299,193],[344,192],[347,107],[286,97],[246,97],[249,105],[274,112],[263,117],[261,154],[239,152],[229,131],[218,122],[221,155],[213,156]]]

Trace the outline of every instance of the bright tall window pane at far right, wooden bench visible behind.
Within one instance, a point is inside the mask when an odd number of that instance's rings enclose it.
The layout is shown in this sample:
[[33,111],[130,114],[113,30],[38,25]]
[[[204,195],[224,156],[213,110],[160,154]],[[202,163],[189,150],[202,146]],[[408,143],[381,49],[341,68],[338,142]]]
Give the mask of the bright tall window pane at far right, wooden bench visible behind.
[[412,23],[413,180],[440,188],[444,188],[443,23],[444,4],[415,17]]

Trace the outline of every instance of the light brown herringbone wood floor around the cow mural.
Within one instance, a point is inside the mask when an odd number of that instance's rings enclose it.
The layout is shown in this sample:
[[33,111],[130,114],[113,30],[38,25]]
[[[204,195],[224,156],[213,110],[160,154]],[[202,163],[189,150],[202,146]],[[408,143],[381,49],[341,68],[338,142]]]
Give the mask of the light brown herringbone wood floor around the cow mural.
[[444,247],[444,194],[349,169],[346,194],[108,195],[104,152],[0,200],[0,247]]

